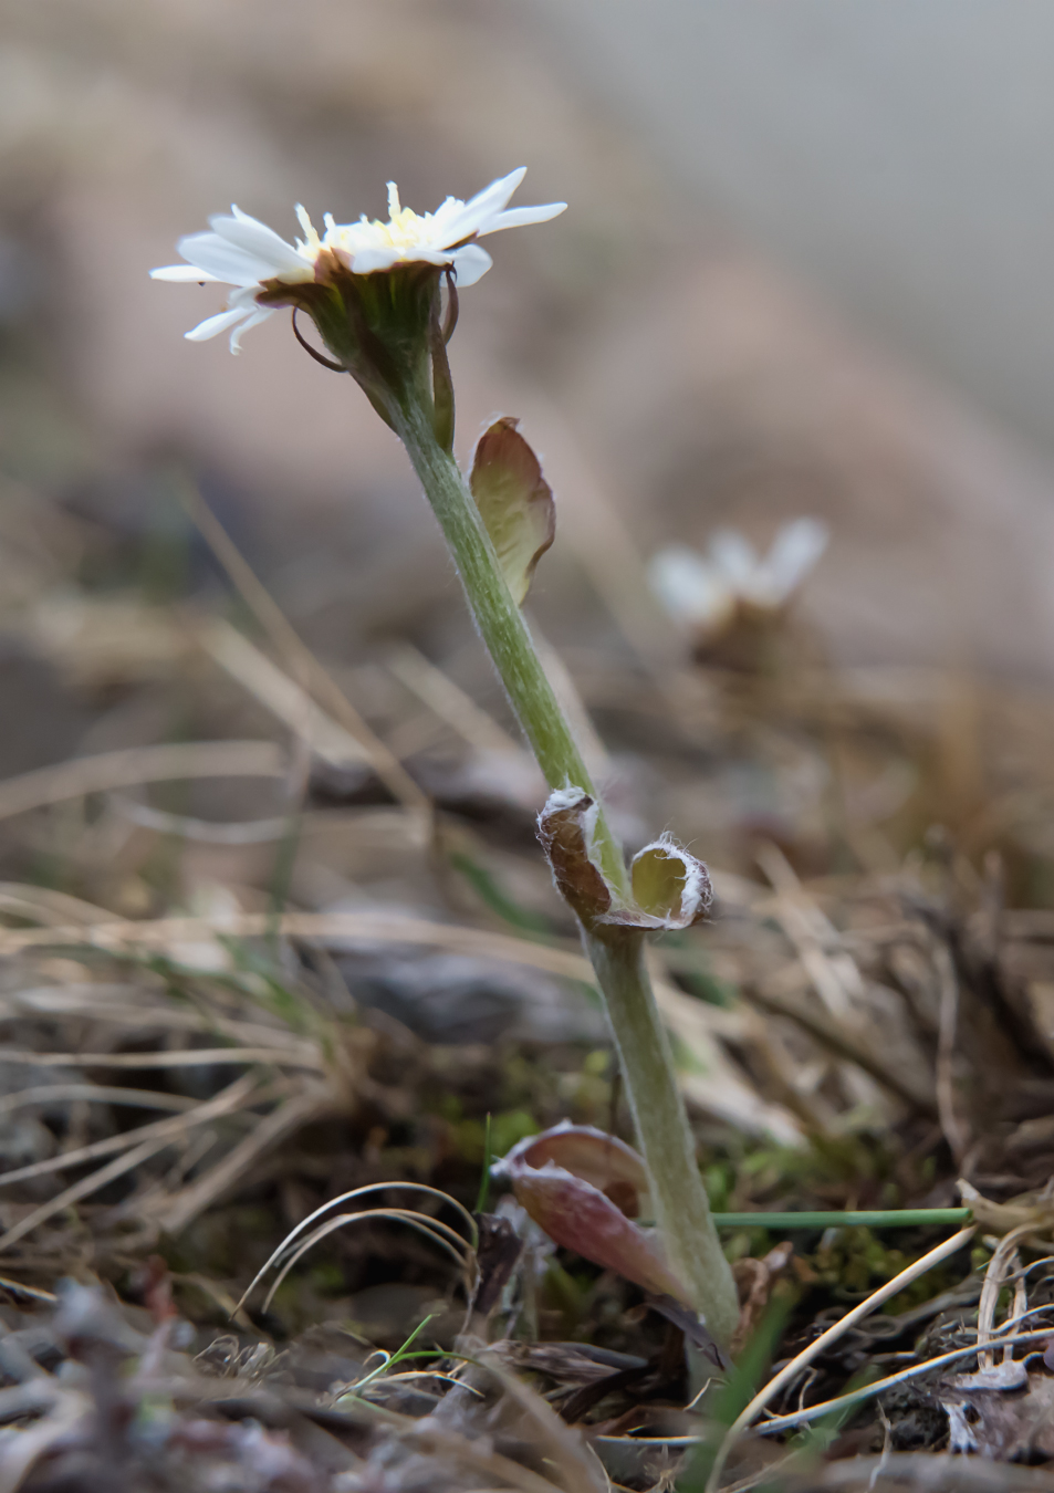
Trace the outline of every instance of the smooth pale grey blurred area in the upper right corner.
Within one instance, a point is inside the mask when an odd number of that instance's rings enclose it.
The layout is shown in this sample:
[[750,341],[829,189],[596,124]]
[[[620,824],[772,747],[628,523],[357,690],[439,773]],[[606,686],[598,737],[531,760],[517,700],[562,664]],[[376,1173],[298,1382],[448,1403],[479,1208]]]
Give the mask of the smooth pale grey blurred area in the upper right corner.
[[1048,0],[528,0],[693,203],[1054,449]]

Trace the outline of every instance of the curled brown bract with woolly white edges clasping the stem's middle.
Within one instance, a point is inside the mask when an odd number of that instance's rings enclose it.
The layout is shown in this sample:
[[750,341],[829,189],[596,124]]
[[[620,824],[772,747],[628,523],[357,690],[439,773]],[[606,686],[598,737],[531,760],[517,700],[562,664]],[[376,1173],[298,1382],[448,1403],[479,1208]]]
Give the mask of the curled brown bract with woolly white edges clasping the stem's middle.
[[630,864],[633,900],[623,905],[594,855],[597,805],[582,788],[561,788],[537,818],[537,838],[564,900],[587,926],[687,929],[711,909],[709,872],[669,835],[645,845]]

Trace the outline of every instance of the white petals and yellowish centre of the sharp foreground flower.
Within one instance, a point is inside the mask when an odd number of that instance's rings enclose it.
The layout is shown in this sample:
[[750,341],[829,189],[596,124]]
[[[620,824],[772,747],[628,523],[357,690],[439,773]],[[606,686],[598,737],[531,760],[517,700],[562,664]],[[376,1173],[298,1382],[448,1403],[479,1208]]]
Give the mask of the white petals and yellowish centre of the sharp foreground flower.
[[178,249],[187,264],[169,264],[151,270],[152,279],[219,281],[236,288],[227,299],[227,311],[208,317],[187,333],[191,342],[205,342],[231,330],[230,349],[237,352],[249,327],[273,315],[273,306],[257,302],[264,284],[296,285],[315,279],[324,254],[336,258],[352,275],[372,275],[396,264],[449,266],[463,290],[491,267],[490,254],[475,242],[485,233],[520,228],[528,222],[548,222],[567,203],[552,202],[540,208],[506,209],[509,197],[524,179],[526,166],[491,182],[470,202],[448,197],[434,212],[418,216],[399,202],[399,188],[388,182],[388,222],[334,222],[325,215],[325,233],[318,236],[311,218],[297,206],[297,218],[305,237],[287,243],[272,228],[248,213],[231,208],[231,216],[209,218],[211,233],[191,233],[181,239]]

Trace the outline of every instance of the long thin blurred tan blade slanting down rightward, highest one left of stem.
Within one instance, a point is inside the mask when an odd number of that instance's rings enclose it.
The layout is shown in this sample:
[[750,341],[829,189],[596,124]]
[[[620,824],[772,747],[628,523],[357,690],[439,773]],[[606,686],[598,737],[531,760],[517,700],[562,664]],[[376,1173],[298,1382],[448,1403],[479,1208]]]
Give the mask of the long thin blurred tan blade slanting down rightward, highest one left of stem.
[[230,576],[242,600],[270,638],[293,678],[314,694],[342,732],[348,733],[358,746],[358,755],[366,757],[378,778],[381,778],[400,803],[406,805],[406,808],[431,814],[431,803],[427,794],[418,788],[381,738],[370,730],[336,679],[327,673],[311,648],[308,648],[240,554],[227,530],[205,503],[202,494],[190,482],[184,487],[184,502],[202,536]]

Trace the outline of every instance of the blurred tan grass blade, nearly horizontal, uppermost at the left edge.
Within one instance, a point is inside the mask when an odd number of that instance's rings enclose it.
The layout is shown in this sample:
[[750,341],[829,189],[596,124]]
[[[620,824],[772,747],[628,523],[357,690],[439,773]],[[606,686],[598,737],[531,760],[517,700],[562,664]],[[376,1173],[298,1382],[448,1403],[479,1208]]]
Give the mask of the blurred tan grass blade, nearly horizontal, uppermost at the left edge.
[[0,820],[85,793],[134,788],[181,778],[282,778],[285,754],[273,742],[181,742],[75,757],[0,782]]

